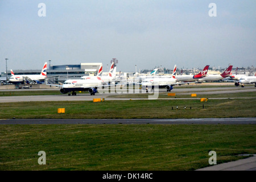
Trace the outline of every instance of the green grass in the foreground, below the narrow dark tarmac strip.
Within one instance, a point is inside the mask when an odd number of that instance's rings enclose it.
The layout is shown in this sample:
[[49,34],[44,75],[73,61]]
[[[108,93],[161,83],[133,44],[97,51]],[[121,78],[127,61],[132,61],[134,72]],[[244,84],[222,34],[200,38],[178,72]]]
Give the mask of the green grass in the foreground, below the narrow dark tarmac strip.
[[[0,170],[193,170],[255,154],[255,125],[0,125]],[[46,165],[38,152],[46,152]]]

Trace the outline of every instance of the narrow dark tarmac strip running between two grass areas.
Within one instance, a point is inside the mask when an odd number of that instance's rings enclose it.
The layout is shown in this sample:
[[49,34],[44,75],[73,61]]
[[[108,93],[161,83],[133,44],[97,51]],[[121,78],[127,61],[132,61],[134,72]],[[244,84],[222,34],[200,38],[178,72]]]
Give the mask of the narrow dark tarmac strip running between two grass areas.
[[195,119],[0,119],[0,125],[51,124],[159,124],[159,125],[255,125],[256,118],[195,118]]

